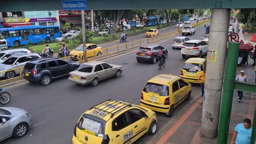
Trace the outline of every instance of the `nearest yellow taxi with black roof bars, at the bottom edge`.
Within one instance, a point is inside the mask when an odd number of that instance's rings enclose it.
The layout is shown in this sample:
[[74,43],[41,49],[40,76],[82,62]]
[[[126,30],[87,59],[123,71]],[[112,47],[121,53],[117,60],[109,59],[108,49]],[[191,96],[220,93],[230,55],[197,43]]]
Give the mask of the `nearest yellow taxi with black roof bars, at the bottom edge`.
[[75,124],[73,144],[133,143],[157,130],[154,111],[138,105],[108,99],[92,106]]

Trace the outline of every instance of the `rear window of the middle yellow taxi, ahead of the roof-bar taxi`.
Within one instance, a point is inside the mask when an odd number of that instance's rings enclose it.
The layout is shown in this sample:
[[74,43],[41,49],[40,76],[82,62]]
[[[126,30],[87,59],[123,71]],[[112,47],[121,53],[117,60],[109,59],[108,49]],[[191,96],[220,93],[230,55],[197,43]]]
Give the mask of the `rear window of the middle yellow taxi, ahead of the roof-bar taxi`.
[[143,92],[155,93],[159,94],[159,96],[167,96],[169,95],[169,87],[148,82],[147,85],[144,87]]

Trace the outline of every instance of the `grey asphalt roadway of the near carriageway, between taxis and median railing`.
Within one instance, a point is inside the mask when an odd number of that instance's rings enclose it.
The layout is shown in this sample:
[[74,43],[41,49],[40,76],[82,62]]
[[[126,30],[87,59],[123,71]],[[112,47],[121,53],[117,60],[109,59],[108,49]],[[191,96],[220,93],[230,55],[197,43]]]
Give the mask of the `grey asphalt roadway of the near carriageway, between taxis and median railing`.
[[[196,34],[188,38],[201,39],[204,33],[202,26],[197,27]],[[109,98],[139,105],[142,88],[151,77],[159,74],[179,76],[185,59],[182,58],[180,50],[172,49],[172,41],[173,39],[168,39],[160,43],[168,49],[166,65],[161,70],[158,70],[158,64],[138,63],[136,52],[132,51],[105,60],[108,63],[123,65],[124,72],[118,79],[100,81],[97,87],[80,86],[70,82],[67,77],[54,80],[49,86],[24,82],[9,87],[12,99],[6,106],[20,107],[30,112],[34,125],[21,139],[11,138],[1,143],[72,143],[74,125],[90,106]],[[191,99],[197,94],[200,94],[200,86],[193,85]],[[172,121],[187,104],[188,101],[184,101],[178,106],[172,118],[157,113],[158,131]],[[152,136],[144,135],[137,143],[148,143],[151,138]]]

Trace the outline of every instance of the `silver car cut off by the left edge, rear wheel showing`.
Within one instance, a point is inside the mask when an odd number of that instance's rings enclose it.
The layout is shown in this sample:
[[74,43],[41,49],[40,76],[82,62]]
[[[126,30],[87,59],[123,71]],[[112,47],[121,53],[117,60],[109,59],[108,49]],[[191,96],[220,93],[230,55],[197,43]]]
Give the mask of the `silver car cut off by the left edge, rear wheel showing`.
[[26,135],[31,127],[30,113],[17,107],[0,108],[0,141],[14,136],[20,138]]

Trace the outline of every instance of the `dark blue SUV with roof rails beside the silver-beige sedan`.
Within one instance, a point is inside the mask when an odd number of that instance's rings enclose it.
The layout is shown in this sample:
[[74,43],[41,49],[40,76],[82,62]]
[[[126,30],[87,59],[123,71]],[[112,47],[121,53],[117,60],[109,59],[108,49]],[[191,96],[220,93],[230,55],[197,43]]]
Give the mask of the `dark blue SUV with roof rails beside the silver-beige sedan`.
[[59,58],[38,58],[25,64],[22,76],[29,82],[42,83],[46,86],[51,80],[66,76],[79,66],[77,62],[71,63]]

